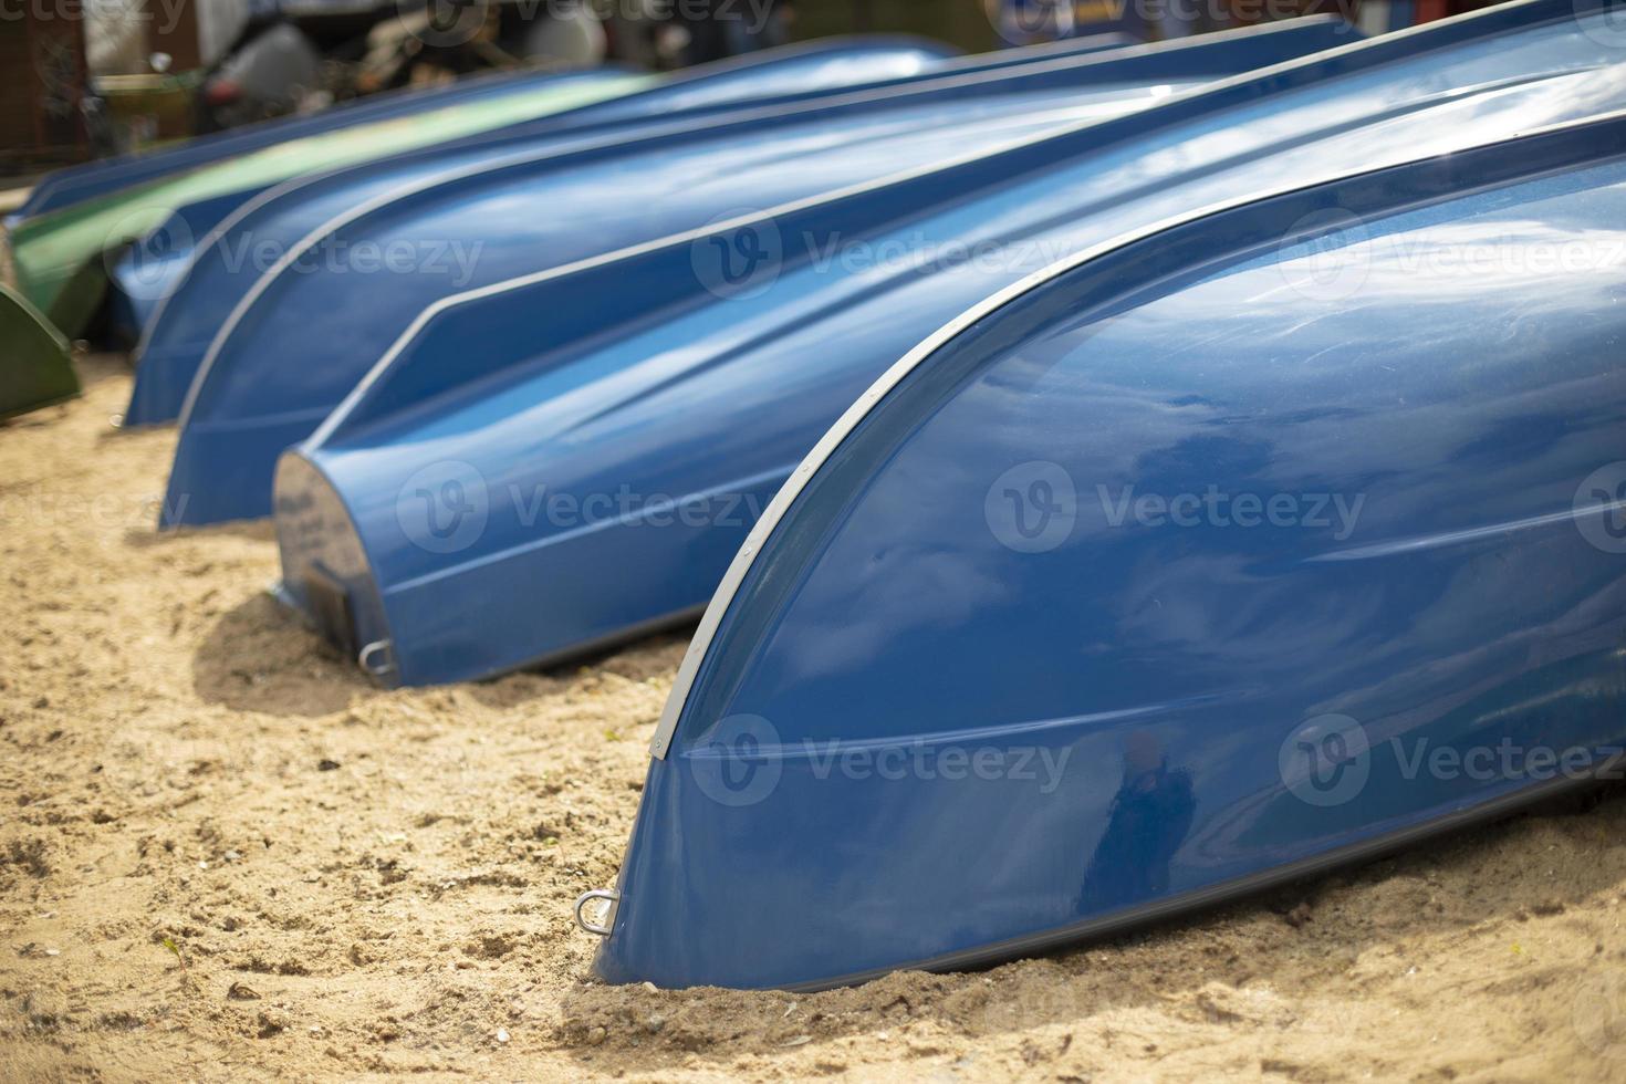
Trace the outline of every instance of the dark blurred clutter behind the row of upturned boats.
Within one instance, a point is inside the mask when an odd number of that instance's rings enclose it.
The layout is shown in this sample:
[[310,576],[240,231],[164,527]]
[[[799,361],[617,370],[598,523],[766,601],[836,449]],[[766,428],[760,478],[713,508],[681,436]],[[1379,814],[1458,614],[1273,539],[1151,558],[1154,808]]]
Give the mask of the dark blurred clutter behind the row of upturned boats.
[[1337,13],[1384,33],[1476,0],[0,0],[0,176],[512,68],[676,70],[839,34],[966,52]]

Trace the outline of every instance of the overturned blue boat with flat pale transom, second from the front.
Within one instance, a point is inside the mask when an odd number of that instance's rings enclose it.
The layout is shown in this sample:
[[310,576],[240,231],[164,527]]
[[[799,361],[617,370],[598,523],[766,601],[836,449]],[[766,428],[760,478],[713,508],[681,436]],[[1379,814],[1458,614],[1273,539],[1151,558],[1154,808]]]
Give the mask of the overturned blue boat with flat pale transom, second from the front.
[[937,327],[1192,206],[1593,115],[1603,18],[1509,5],[437,304],[283,457],[285,595],[403,684],[689,621]]

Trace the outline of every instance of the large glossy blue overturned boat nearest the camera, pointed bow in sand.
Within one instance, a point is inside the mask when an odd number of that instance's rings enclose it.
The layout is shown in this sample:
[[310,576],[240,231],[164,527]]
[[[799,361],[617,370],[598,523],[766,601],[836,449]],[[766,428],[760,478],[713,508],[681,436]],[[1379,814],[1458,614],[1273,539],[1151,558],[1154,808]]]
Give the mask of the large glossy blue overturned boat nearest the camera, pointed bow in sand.
[[980,967],[1618,777],[1623,223],[1615,114],[961,314],[733,561],[598,973]]

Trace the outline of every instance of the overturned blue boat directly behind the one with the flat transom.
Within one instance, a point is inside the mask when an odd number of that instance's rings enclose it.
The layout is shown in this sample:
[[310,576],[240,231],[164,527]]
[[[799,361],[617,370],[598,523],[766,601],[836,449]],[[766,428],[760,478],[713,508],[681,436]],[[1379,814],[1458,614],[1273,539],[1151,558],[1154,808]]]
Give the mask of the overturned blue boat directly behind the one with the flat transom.
[[[1150,106],[1171,83],[1348,39],[1341,24],[1311,21],[1190,46],[1041,60],[1034,70],[946,76],[907,93],[753,111],[634,143],[527,156],[413,187],[359,215],[346,211],[301,252],[424,254],[441,257],[437,267],[420,270],[408,258],[405,273],[380,276],[291,263],[255,281],[252,301],[228,320],[193,382],[171,475],[171,489],[189,497],[171,507],[185,509],[180,523],[270,514],[276,457],[309,436],[423,312],[459,289],[501,286],[743,211],[873,182],[901,163],[943,163],[1075,128],[1094,115]],[[660,192],[659,205],[629,213],[649,192]],[[569,216],[554,213],[561,206]],[[606,294],[597,307],[641,319],[639,309],[659,309],[668,293],[650,284],[637,301]],[[358,310],[367,319],[356,320]],[[446,379],[460,375],[449,371]]]

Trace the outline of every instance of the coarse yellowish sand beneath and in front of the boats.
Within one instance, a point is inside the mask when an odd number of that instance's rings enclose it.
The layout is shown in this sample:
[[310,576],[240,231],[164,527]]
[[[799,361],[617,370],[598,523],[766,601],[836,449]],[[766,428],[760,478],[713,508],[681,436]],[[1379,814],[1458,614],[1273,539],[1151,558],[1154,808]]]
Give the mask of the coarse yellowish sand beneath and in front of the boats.
[[597,985],[681,639],[377,691],[81,367],[0,426],[0,1079],[1626,1079],[1621,791],[985,973]]

